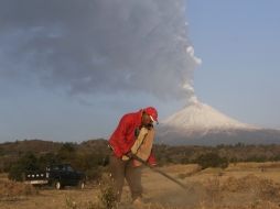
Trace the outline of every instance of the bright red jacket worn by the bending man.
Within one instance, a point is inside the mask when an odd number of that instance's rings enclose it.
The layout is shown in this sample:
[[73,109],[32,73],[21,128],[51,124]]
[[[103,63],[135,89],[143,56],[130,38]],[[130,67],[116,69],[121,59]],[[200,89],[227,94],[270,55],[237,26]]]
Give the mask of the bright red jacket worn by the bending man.
[[[134,141],[136,141],[136,129],[141,127],[142,111],[127,113],[125,114],[109,139],[109,144],[114,150],[117,157],[121,158],[122,155],[130,152]],[[148,163],[155,165],[155,158],[151,153],[148,158]]]

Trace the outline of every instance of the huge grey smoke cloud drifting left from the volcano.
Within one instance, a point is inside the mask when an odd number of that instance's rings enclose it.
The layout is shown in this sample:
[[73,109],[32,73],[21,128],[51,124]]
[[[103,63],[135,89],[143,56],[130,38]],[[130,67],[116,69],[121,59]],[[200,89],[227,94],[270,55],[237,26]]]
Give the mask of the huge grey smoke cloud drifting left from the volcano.
[[71,94],[193,96],[184,0],[1,0],[0,77]]

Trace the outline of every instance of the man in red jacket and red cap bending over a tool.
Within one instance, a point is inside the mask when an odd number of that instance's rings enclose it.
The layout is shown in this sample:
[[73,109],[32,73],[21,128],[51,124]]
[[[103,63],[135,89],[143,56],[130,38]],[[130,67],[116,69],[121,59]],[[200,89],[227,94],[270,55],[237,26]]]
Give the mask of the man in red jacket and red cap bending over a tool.
[[[149,134],[149,132],[154,133],[153,122],[158,123],[158,111],[153,107],[127,113],[120,119],[117,129],[109,139],[109,145],[114,151],[110,156],[110,172],[115,183],[117,201],[121,199],[125,178],[129,185],[132,201],[141,201],[141,166],[137,166],[131,156],[136,154],[132,151],[139,132],[144,129],[148,132],[147,136],[153,138],[154,134]],[[150,165],[155,165],[155,158],[151,151],[149,151],[147,162]]]

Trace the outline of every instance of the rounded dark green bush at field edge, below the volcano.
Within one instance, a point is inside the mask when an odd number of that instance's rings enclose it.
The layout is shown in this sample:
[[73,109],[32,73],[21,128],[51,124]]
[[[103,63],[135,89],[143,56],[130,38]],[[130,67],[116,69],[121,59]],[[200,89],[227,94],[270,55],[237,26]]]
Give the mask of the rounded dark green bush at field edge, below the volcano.
[[206,153],[200,155],[195,163],[202,166],[202,169],[207,167],[222,167],[226,168],[228,166],[228,161],[226,157],[220,157],[217,153]]

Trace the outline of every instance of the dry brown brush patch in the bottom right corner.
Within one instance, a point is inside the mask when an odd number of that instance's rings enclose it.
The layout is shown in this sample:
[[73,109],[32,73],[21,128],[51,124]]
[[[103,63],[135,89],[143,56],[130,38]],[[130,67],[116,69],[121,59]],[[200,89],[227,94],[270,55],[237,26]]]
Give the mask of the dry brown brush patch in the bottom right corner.
[[280,208],[280,185],[271,179],[252,174],[224,180],[215,176],[204,180],[203,185],[207,197],[201,202],[201,208]]

